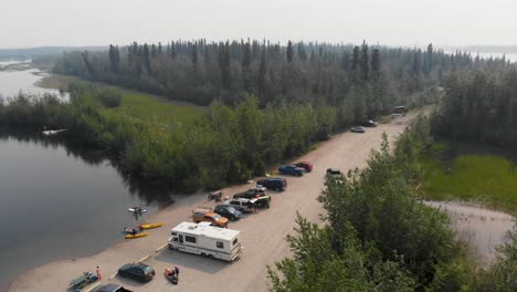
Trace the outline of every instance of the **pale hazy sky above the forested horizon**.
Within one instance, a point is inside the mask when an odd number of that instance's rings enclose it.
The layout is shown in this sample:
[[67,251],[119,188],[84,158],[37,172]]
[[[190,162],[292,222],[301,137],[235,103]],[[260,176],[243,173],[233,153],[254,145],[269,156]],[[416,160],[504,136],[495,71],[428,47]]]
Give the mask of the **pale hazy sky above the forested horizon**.
[[2,0],[0,48],[263,39],[516,44],[515,0]]

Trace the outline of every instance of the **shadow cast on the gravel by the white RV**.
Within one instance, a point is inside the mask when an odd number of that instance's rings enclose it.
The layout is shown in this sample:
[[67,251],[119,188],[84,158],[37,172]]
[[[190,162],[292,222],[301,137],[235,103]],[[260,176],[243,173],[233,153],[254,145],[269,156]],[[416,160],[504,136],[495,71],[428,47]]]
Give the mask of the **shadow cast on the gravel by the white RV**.
[[211,274],[218,273],[229,264],[232,264],[221,260],[208,259],[201,255],[169,249],[165,249],[155,255],[155,260],[166,262],[168,265],[188,267]]

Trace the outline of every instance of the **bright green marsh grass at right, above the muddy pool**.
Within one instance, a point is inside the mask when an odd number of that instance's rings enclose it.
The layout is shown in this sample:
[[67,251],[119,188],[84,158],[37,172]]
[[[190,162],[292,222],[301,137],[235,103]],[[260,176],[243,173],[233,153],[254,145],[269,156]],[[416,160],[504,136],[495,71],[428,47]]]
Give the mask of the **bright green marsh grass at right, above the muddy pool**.
[[[431,152],[446,147],[436,144]],[[460,155],[445,161],[426,157],[423,165],[428,199],[476,201],[517,212],[517,169],[510,160],[494,155]]]

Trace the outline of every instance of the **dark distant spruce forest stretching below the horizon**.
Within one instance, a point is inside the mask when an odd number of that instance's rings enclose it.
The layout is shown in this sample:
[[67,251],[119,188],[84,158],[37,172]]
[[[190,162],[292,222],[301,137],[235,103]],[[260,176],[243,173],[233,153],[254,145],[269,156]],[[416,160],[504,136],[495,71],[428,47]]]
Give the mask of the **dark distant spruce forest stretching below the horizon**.
[[[422,92],[440,86],[475,58],[380,45],[266,41],[173,41],[110,45],[106,52],[65,53],[54,71],[172,100],[234,105],[250,94],[267,104],[309,103],[338,108],[352,121],[376,118],[395,105],[432,103]],[[492,64],[490,60],[477,60]]]

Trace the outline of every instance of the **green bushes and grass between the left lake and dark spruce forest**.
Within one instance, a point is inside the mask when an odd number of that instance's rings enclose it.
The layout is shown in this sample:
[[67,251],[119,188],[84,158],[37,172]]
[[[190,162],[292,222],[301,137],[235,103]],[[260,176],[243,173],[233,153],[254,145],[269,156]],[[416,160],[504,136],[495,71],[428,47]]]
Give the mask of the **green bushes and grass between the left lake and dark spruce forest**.
[[70,103],[23,94],[0,103],[0,122],[67,128],[67,136],[110,153],[129,174],[194,191],[264,175],[267,165],[328,137],[335,115],[327,106],[260,109],[253,96],[234,107],[214,102],[200,112],[78,84],[71,85]]

